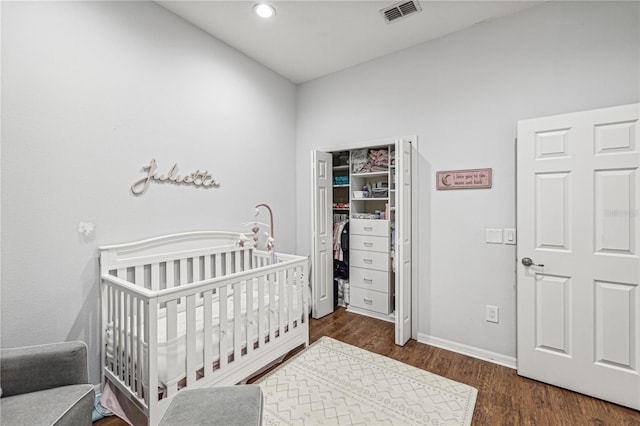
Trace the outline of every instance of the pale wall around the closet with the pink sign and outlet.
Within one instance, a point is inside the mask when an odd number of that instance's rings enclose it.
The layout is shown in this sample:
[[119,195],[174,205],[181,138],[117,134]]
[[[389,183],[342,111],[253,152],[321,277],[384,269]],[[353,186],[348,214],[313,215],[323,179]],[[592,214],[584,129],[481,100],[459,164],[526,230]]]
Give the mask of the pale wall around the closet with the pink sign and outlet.
[[[419,337],[513,362],[515,247],[484,232],[515,227],[516,121],[638,102],[639,16],[638,2],[549,2],[300,86],[298,252],[311,149],[417,134]],[[491,189],[434,189],[438,170],[484,167]]]

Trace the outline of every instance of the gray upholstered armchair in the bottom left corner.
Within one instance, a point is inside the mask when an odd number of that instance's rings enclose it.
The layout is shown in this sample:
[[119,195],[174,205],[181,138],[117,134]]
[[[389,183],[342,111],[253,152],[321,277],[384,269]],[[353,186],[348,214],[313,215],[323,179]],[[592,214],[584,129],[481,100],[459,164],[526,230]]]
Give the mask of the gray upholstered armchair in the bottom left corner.
[[0,424],[90,425],[87,345],[64,342],[0,351]]

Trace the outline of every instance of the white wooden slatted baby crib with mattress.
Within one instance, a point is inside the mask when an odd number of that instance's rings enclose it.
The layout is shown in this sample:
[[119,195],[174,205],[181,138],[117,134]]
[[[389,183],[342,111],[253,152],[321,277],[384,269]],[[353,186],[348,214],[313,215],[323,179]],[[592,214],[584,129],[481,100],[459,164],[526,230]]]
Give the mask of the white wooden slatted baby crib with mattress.
[[104,379],[149,424],[181,389],[242,382],[309,343],[308,259],[274,261],[239,237],[189,232],[100,248]]

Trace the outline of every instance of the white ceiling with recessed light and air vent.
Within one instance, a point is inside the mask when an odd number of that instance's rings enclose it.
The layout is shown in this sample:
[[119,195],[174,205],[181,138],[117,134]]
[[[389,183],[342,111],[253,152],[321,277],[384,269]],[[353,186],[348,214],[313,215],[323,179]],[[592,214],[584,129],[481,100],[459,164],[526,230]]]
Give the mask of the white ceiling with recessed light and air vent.
[[255,1],[157,1],[178,16],[294,83],[303,83],[540,1],[420,1],[422,11],[387,23],[389,1],[269,1],[276,16],[259,18]]

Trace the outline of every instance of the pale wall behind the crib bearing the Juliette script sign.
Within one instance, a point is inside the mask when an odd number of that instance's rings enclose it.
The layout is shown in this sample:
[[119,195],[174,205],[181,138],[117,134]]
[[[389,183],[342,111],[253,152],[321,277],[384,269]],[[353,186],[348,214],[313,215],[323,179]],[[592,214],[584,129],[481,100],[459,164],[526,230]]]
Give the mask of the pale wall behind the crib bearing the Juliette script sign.
[[[267,202],[293,251],[294,140],[292,83],[154,3],[2,2],[2,347],[84,340],[99,381],[100,245]],[[221,187],[132,196],[152,158]]]

